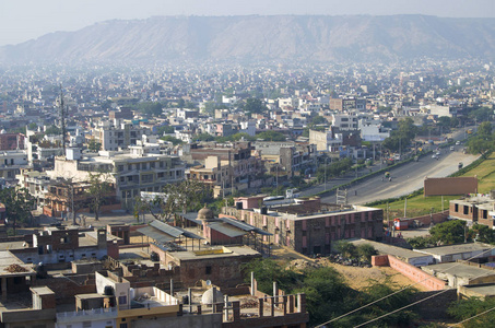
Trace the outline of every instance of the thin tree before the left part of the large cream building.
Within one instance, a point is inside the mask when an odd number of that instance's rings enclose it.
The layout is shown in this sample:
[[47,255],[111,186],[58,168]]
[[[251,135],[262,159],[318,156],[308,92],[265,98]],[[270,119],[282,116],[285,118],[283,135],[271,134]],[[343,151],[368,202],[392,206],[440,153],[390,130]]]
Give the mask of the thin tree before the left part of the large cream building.
[[87,183],[90,186],[85,189],[85,194],[90,198],[90,208],[95,213],[95,221],[98,221],[102,206],[114,191],[110,175],[107,172],[90,172]]

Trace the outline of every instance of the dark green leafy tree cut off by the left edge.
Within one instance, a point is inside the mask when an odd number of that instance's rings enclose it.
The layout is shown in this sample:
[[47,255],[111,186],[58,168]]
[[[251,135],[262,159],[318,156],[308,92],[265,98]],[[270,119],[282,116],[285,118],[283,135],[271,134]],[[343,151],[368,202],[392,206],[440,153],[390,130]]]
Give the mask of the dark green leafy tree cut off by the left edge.
[[0,189],[0,202],[5,206],[5,218],[15,227],[17,224],[32,222],[31,211],[34,209],[36,200],[26,188],[3,188]]

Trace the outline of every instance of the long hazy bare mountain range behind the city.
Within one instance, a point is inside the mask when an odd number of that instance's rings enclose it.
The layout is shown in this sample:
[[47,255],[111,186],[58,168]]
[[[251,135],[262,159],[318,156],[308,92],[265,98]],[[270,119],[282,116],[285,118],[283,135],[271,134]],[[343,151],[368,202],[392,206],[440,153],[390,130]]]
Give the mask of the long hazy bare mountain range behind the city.
[[0,47],[0,63],[173,60],[492,60],[495,19],[427,15],[156,16]]

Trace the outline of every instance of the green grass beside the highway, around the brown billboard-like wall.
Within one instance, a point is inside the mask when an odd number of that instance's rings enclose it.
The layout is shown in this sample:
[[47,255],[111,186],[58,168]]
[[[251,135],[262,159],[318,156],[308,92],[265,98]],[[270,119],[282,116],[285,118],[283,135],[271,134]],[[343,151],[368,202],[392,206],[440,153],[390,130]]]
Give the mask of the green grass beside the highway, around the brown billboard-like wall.
[[[495,189],[495,153],[459,176],[478,176],[478,189],[481,194],[487,194]],[[448,210],[450,200],[458,198],[459,196],[444,196],[444,210]],[[404,216],[404,203],[405,197],[389,203],[390,220]],[[387,203],[374,204],[374,207],[384,209],[385,215],[387,215]],[[405,214],[408,218],[425,215],[432,212],[432,208],[433,212],[441,211],[441,196],[424,197],[423,194],[416,195],[408,199]]]

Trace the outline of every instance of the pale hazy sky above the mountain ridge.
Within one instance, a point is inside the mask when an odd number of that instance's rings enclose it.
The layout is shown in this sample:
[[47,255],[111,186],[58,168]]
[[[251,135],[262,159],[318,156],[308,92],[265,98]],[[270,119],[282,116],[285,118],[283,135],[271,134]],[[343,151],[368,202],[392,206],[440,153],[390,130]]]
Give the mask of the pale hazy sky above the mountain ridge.
[[495,0],[0,0],[0,46],[155,15],[428,14],[495,17]]

